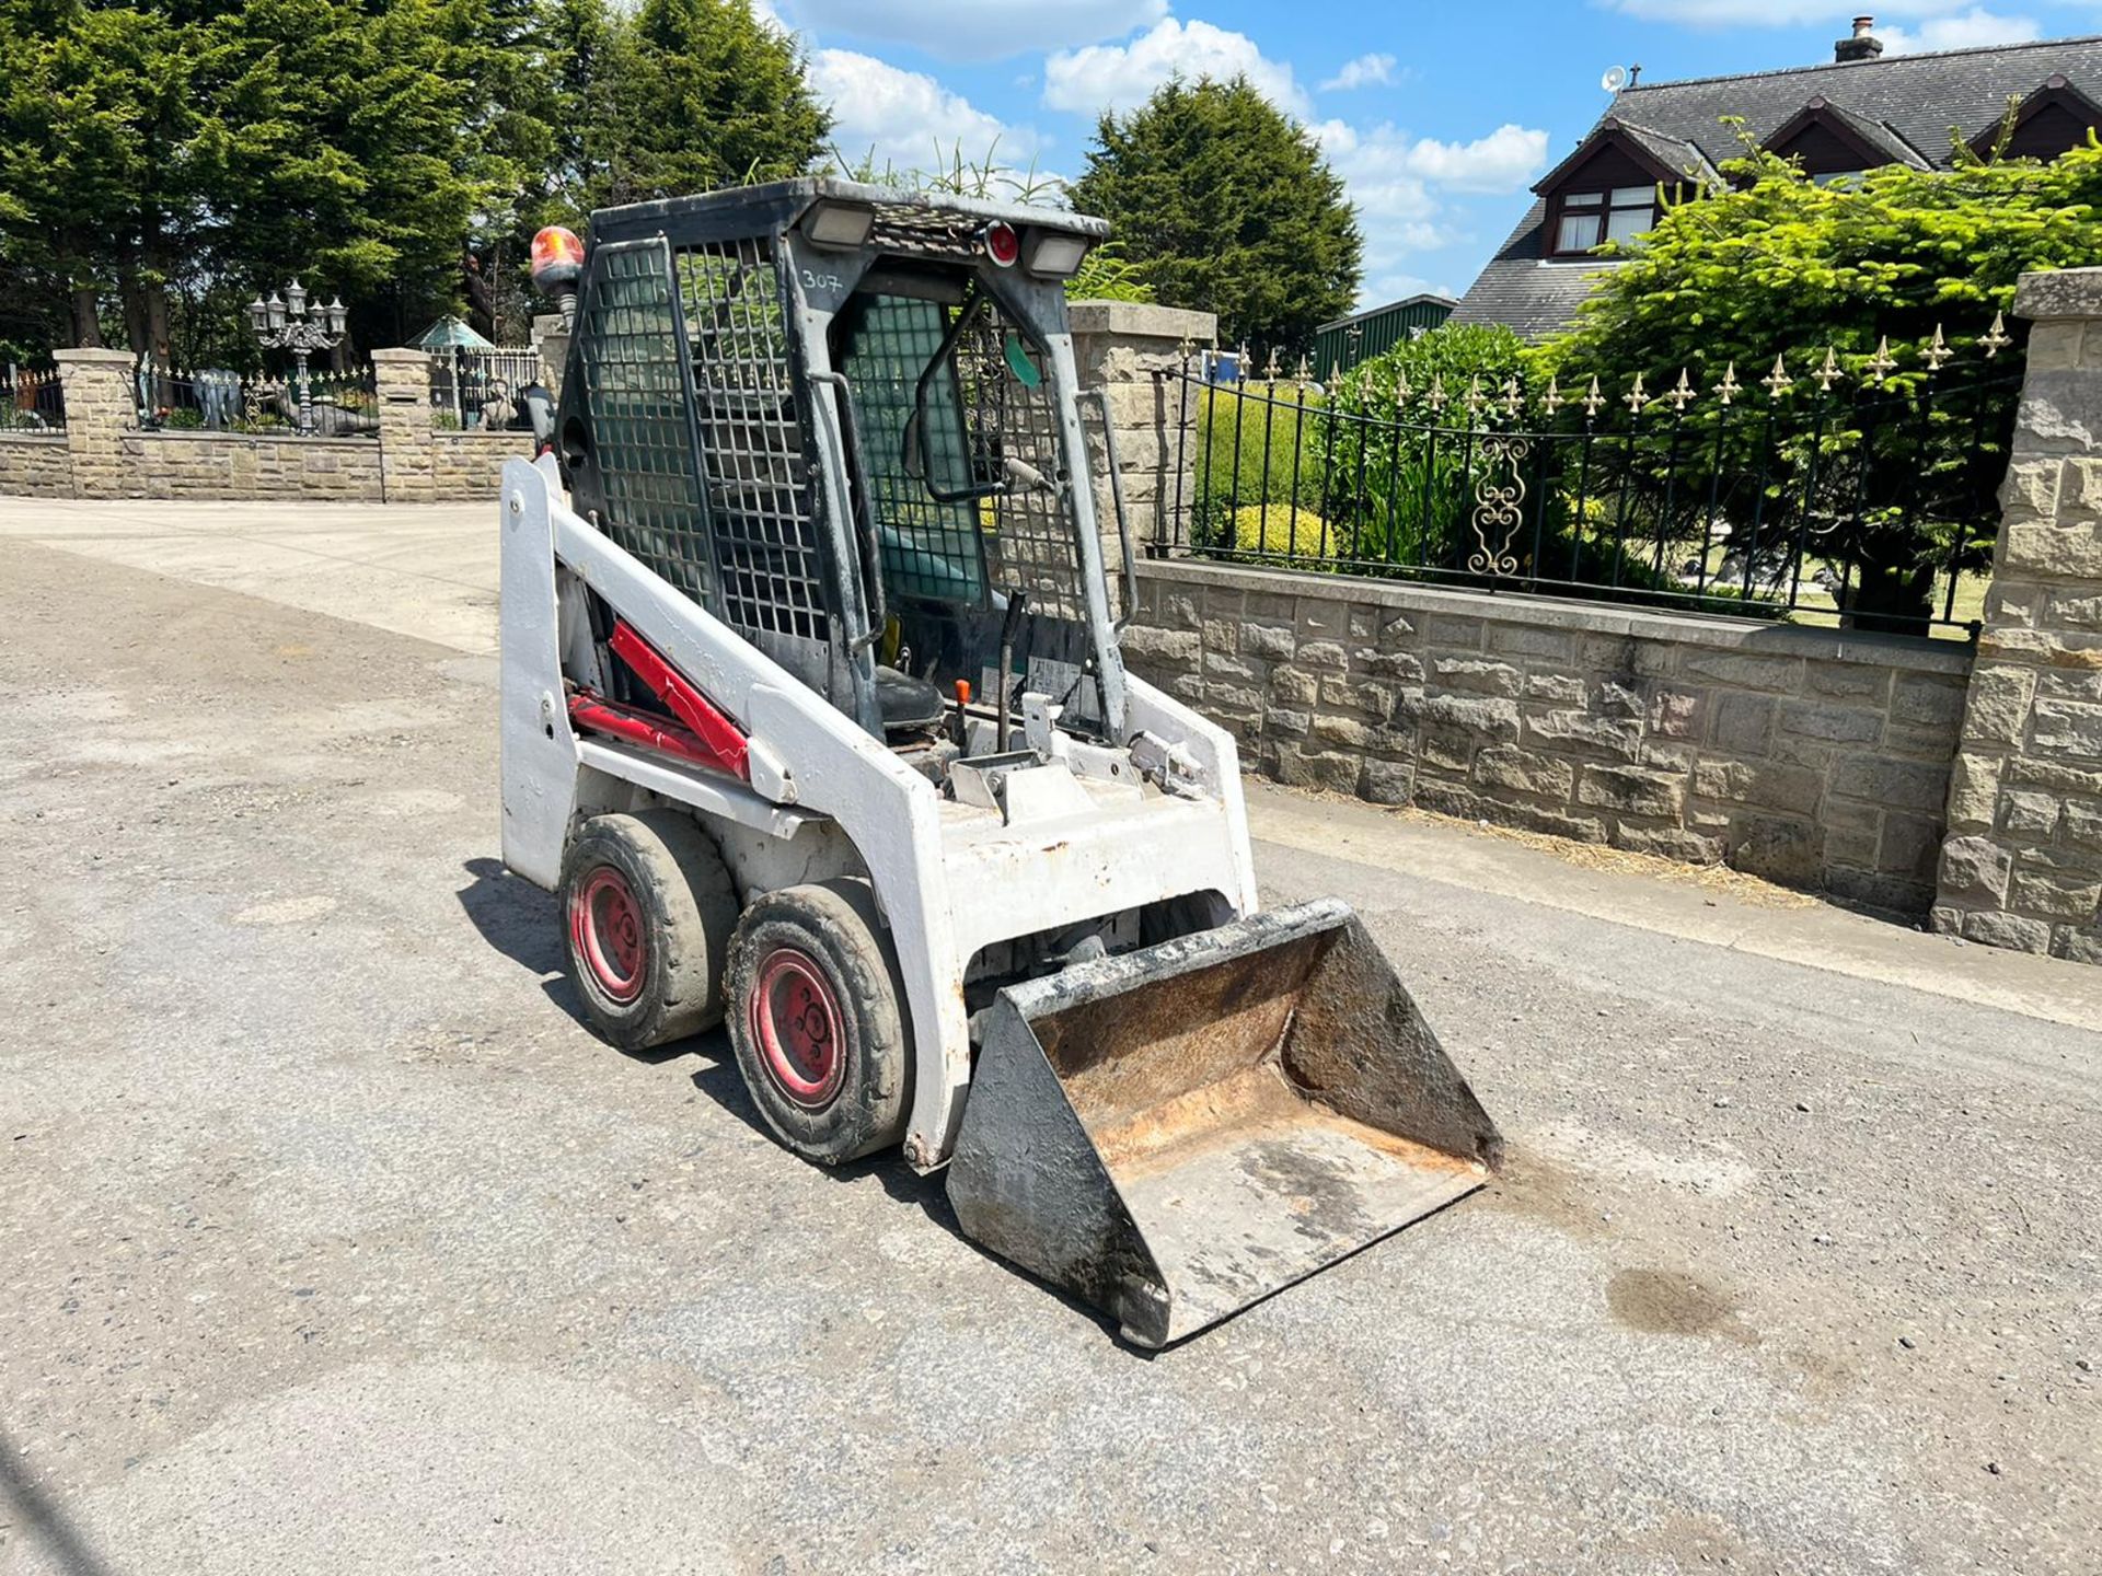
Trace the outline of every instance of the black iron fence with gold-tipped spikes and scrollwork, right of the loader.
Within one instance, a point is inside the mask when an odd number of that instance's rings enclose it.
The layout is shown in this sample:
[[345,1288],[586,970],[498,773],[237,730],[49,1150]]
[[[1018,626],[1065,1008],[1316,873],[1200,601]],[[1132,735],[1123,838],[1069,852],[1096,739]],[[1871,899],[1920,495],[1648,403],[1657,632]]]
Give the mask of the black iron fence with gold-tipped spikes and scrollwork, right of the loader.
[[1974,637],[2022,382],[2003,319],[1661,389],[1368,364],[1179,382],[1156,555]]

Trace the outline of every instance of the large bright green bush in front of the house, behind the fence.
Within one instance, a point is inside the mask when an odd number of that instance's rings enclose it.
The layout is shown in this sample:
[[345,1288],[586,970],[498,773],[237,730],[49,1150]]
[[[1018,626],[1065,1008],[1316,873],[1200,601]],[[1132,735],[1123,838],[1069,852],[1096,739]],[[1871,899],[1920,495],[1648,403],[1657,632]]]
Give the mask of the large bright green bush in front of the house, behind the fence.
[[[1846,540],[1829,551],[1856,565],[1850,622],[1923,630],[1936,569],[1957,557],[1982,567],[1993,540],[2020,357],[1984,357],[1980,336],[2024,271],[2102,254],[2102,145],[2089,139],[2049,164],[1963,153],[1955,170],[1888,164],[1816,185],[1747,143],[1724,174],[1730,189],[1669,204],[1627,248],[1576,330],[1537,353],[1537,374],[1564,387],[1595,374],[1623,393],[1637,374],[1667,389],[1684,368],[1705,391],[1730,366],[1749,385],[1785,353],[1797,387],[1782,401],[1791,422],[1776,475],[1764,498],[1726,509],[1757,504],[1768,530],[1791,534],[1843,521]],[[1955,357],[1923,401],[1936,332]],[[1875,385],[1867,374],[1885,340],[1896,368]],[[1808,374],[1827,353],[1841,382],[1820,406],[1829,418],[1812,422]],[[1965,385],[1976,393],[1951,395]],[[1713,408],[1696,408],[1679,485],[1753,485],[1761,466],[1743,452],[1703,450],[1713,431]],[[1873,464],[1860,471],[1864,454]],[[1640,469],[1629,481],[1646,485]]]

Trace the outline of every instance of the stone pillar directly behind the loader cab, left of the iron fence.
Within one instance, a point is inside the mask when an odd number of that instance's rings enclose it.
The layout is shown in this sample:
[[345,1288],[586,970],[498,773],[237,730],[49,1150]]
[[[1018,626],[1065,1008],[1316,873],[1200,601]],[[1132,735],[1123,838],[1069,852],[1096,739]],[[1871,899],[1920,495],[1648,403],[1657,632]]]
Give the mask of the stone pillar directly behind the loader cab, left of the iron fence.
[[[1181,424],[1196,410],[1196,395],[1181,380],[1156,374],[1179,372],[1192,349],[1209,347],[1217,338],[1219,319],[1209,311],[1177,311],[1137,300],[1076,300],[1070,319],[1080,387],[1101,389],[1110,401],[1125,515],[1131,521],[1133,546],[1143,557],[1169,530],[1169,513],[1177,498],[1177,466],[1183,471],[1181,500],[1186,509],[1190,506],[1190,469],[1196,462],[1194,441],[1177,443]],[[1089,433],[1087,464],[1095,477],[1101,561],[1110,572],[1112,601],[1120,605],[1122,559],[1101,424],[1095,410],[1083,410],[1080,420]]]

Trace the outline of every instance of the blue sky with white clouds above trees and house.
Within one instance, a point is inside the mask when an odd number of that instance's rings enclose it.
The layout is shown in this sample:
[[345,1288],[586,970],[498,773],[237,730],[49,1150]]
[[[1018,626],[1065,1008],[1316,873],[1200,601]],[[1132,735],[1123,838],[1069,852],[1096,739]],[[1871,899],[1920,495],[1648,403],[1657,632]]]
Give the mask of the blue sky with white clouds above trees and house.
[[[767,8],[767,0],[759,0]],[[1661,82],[1831,59],[1856,11],[1890,48],[2102,32],[2102,0],[771,0],[809,50],[843,153],[933,149],[1074,174],[1104,107],[1171,71],[1244,71],[1314,128],[1358,204],[1362,303],[1465,290],[1528,187],[1606,107]]]

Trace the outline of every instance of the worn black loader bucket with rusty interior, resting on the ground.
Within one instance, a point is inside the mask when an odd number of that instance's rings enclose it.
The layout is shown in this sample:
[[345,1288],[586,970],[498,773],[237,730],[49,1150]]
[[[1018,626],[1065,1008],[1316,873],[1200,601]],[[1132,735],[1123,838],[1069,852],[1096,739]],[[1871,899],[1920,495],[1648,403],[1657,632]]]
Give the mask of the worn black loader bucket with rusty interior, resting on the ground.
[[1005,988],[948,1196],[1165,1347],[1471,1194],[1501,1143],[1326,899]]

